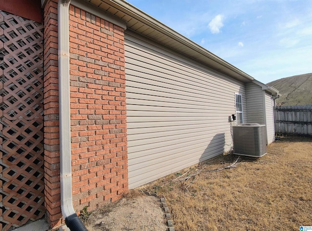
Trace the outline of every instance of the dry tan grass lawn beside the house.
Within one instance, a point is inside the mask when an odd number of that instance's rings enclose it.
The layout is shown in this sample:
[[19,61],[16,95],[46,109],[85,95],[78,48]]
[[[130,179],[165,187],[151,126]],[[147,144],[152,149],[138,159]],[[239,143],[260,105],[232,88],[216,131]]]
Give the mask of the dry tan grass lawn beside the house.
[[236,159],[218,156],[183,175],[202,171],[186,183],[170,180],[189,169],[145,189],[165,195],[176,231],[297,231],[312,226],[312,138],[281,138],[262,158],[240,158],[236,168],[208,172]]

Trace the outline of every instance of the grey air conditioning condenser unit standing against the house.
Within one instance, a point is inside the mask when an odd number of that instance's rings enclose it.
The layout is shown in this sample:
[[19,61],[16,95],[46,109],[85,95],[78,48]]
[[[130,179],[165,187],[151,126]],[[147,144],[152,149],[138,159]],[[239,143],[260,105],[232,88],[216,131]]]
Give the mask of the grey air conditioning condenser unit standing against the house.
[[266,126],[257,123],[234,125],[234,154],[261,157],[267,154]]

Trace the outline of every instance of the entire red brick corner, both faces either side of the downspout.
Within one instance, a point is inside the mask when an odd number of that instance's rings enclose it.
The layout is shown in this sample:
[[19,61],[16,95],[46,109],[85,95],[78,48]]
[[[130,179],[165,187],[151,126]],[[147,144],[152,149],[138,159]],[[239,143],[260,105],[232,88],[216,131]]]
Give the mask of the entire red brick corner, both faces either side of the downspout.
[[[69,9],[73,204],[88,211],[128,190],[124,31]],[[44,8],[45,206],[61,223],[57,1]]]

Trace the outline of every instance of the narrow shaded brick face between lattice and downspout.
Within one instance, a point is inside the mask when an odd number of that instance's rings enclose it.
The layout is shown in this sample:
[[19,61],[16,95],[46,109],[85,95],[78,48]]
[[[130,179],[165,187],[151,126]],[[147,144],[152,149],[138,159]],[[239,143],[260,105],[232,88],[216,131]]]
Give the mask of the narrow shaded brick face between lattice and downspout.
[[44,195],[46,218],[60,225],[58,2],[44,7]]

